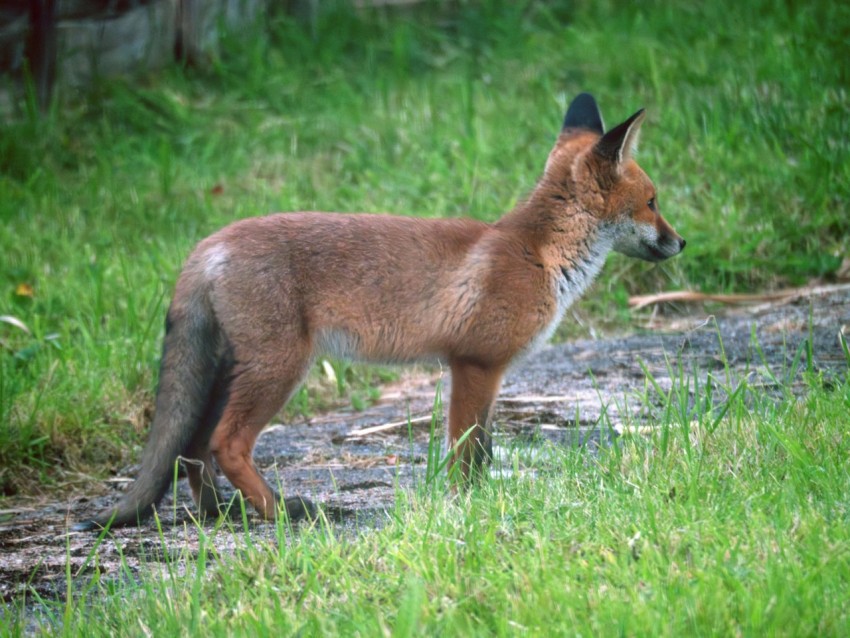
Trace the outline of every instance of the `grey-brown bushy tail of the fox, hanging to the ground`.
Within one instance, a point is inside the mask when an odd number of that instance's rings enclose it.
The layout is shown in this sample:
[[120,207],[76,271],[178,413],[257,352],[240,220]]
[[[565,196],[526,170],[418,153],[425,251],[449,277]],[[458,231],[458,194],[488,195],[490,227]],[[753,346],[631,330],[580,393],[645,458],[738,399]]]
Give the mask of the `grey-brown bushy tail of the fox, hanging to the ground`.
[[171,485],[174,463],[204,426],[207,406],[221,358],[222,337],[215,315],[199,293],[193,301],[168,311],[156,395],[156,412],[136,481],[121,501],[77,531],[137,525],[150,516]]

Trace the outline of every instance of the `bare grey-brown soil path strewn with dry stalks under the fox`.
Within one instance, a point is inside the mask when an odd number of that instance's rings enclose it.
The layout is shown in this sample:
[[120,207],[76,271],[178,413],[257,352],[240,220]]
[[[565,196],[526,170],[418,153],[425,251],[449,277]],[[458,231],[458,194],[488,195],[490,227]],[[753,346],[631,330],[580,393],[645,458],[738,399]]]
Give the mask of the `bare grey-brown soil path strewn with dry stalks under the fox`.
[[[809,290],[782,303],[724,310],[717,316],[653,316],[629,336],[549,347],[517,365],[505,380],[495,410],[496,460],[509,448],[533,452],[553,444],[582,446],[592,454],[624,428],[651,427],[660,398],[647,389],[647,373],[664,389],[680,372],[698,379],[700,387],[712,383],[716,399],[722,399],[727,379],[732,387],[747,379],[750,387],[777,398],[799,393],[807,367],[829,383],[847,374],[839,332],[850,340],[850,285]],[[811,363],[808,348],[801,349],[809,337]],[[438,383],[448,394],[448,375],[419,370],[387,387],[366,410],[338,410],[272,425],[260,437],[256,463],[283,493],[317,503],[341,531],[380,526],[398,490],[424,479]],[[443,403],[448,405],[447,396]],[[360,432],[375,426],[384,427]],[[437,427],[441,439],[442,426]],[[533,467],[534,454],[529,458]],[[182,479],[176,501],[169,494],[159,507],[161,532],[153,522],[100,540],[97,534],[69,531],[73,522],[113,503],[134,472],[127,468],[124,478],[90,486],[99,496],[80,490],[47,505],[21,500],[9,507],[7,502],[0,511],[0,597],[11,601],[24,591],[61,596],[68,563],[71,573],[84,580],[95,569],[102,578],[126,576],[122,561],[132,571],[142,560],[149,566],[165,553],[191,555],[198,528]],[[276,537],[273,523],[249,518],[252,538]],[[205,525],[208,534],[213,525]],[[242,529],[237,520],[217,531],[217,550],[237,546]]]

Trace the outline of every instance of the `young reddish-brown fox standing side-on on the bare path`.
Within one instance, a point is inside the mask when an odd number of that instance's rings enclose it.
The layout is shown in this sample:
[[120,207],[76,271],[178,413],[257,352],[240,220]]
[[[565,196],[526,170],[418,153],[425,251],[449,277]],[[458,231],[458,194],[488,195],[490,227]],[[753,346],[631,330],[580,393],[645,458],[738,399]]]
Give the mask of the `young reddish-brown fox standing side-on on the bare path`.
[[311,517],[257,471],[254,444],[324,356],[450,370],[449,470],[467,485],[492,454],[506,371],[540,348],[616,251],[648,262],[685,240],[634,159],[646,113],[606,131],[592,95],[567,108],[531,192],[494,223],[295,212],[236,221],[202,240],[165,321],[159,386],[138,478],[77,530],[139,525],[185,461],[199,514],[217,516],[215,464],[259,513]]

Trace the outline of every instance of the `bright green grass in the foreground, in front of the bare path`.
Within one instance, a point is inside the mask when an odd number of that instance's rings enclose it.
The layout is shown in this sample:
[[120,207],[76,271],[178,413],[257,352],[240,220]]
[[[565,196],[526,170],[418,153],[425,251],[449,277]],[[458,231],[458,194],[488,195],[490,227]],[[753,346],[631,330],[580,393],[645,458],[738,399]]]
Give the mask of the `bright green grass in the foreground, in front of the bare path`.
[[[381,529],[353,538],[320,522],[279,527],[272,541],[248,531],[225,552],[226,528],[207,528],[198,548],[163,547],[164,567],[118,578],[95,568],[84,585],[69,576],[67,600],[42,601],[37,626],[68,636],[846,635],[850,379],[827,389],[813,378],[803,400],[777,402],[746,381],[731,392],[724,376],[714,382],[727,398],[686,415],[676,397],[695,377],[679,371],[672,391],[648,393],[660,404],[649,437],[626,435],[595,457],[553,449],[533,471],[518,454],[522,472],[450,499],[440,473],[400,494]],[[14,633],[22,609],[0,630]]]

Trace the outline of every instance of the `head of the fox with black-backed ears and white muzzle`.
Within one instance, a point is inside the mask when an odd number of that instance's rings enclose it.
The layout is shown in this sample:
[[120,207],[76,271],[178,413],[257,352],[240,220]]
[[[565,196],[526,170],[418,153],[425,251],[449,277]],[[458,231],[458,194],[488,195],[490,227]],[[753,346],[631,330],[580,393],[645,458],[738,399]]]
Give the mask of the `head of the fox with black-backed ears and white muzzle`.
[[582,93],[567,110],[544,180],[566,187],[614,250],[655,262],[679,254],[685,240],[661,216],[655,186],[632,158],[645,115],[641,109],[606,133],[596,100]]

